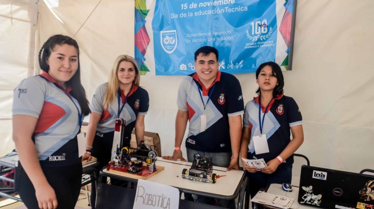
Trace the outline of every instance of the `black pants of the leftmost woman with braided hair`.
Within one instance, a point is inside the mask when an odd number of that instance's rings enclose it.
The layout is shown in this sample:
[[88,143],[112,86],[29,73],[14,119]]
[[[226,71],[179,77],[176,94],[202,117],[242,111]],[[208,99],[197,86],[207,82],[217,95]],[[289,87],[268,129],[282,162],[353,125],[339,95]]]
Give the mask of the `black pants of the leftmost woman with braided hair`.
[[[41,169],[56,194],[57,209],[74,209],[81,188],[82,163],[61,167],[41,165]],[[27,209],[39,209],[34,186],[21,165],[16,169],[15,184]]]

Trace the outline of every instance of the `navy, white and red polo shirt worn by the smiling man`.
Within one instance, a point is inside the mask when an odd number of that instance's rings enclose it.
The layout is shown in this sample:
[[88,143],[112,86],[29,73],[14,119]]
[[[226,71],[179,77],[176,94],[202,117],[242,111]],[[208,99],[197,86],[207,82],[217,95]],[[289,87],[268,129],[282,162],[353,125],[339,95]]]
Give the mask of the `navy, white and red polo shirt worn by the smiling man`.
[[[214,88],[213,88],[214,86]],[[200,115],[204,113],[200,94],[206,105],[206,128],[200,132]],[[178,108],[188,111],[186,147],[205,152],[231,152],[229,116],[243,114],[243,96],[239,81],[231,74],[218,71],[214,83],[205,88],[196,73],[183,79],[178,91]]]

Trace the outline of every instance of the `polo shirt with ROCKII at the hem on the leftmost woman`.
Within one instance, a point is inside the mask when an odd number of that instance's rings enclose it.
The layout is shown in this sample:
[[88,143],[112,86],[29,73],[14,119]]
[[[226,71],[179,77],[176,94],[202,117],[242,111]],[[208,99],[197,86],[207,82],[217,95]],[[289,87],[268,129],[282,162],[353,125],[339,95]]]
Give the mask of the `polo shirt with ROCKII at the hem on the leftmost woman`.
[[80,162],[76,135],[79,131],[77,108],[79,112],[81,109],[70,91],[70,87],[65,91],[44,71],[24,79],[14,90],[12,114],[38,118],[32,139],[43,165]]

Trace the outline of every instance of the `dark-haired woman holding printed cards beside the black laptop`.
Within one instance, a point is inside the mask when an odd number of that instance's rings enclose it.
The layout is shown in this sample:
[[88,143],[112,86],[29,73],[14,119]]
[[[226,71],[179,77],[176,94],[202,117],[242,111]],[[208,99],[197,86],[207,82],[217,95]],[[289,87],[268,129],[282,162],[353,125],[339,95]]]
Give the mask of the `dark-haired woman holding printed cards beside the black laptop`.
[[244,109],[240,155],[248,159],[263,158],[266,167],[258,169],[242,162],[249,176],[251,197],[272,183],[291,184],[293,153],[304,141],[300,109],[293,98],[283,95],[284,80],[279,65],[261,64],[256,71],[256,83],[258,97]]

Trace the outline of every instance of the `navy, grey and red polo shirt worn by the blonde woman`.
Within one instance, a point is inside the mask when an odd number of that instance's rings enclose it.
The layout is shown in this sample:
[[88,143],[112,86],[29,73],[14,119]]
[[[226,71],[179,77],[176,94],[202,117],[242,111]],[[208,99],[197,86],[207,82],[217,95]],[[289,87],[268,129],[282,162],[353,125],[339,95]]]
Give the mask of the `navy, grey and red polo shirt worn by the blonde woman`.
[[[131,132],[135,127],[135,120],[138,114],[147,114],[149,107],[148,92],[137,86],[133,85],[130,94],[127,98],[127,102],[123,107],[120,115],[118,116],[118,98],[117,95],[110,103],[108,109],[104,109],[104,96],[108,89],[108,83],[101,84],[97,89],[92,98],[90,108],[92,112],[101,114],[99,124],[97,125],[97,131],[107,133],[114,131],[115,121],[117,118],[123,118],[126,120],[125,126],[125,137],[130,137]],[[121,90],[121,104],[125,102],[126,95]],[[130,140],[129,139],[129,140]]]

